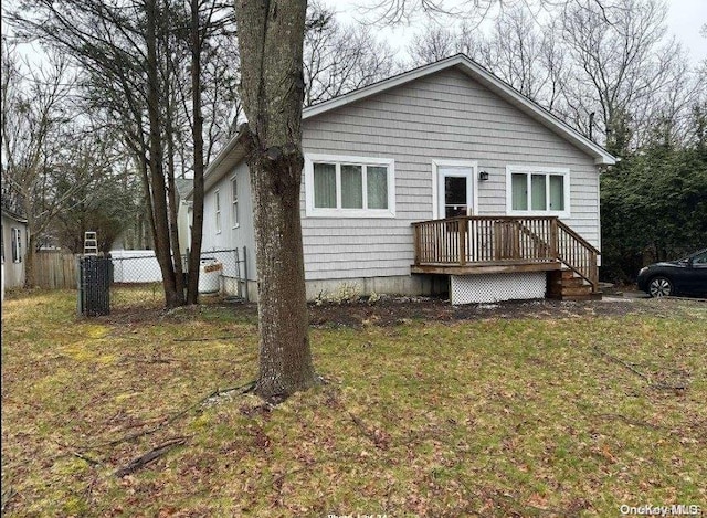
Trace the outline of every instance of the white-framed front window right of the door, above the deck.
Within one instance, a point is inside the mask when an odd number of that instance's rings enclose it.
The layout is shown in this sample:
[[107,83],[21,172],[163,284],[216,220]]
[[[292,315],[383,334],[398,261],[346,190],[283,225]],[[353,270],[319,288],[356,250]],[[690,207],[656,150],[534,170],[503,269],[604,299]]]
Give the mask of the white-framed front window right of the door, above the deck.
[[544,166],[506,167],[509,215],[570,215],[570,170]]

